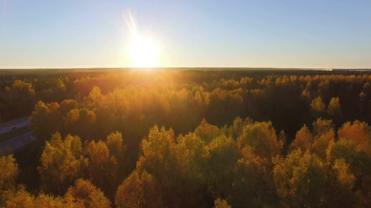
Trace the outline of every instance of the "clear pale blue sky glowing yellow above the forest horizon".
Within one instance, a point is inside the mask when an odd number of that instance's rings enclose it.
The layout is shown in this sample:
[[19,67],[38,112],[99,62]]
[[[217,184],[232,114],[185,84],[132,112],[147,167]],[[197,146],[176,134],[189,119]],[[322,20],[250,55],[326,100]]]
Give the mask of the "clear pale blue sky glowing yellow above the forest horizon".
[[0,69],[135,67],[132,24],[155,46],[152,67],[370,69],[370,11],[356,0],[0,0]]

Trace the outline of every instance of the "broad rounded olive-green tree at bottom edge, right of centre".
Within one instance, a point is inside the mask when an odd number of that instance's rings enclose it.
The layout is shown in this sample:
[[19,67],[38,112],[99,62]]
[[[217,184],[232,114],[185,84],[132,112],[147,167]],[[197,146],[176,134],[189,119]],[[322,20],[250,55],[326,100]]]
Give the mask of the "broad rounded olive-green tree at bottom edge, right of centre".
[[324,164],[309,151],[293,150],[286,158],[274,159],[276,191],[292,207],[319,207],[324,198]]

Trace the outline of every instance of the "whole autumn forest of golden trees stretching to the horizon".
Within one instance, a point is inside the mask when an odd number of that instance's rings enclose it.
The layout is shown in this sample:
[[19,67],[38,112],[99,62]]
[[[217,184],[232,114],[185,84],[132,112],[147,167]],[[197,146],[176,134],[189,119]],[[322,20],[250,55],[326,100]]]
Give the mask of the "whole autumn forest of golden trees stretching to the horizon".
[[0,71],[0,207],[371,207],[368,71]]

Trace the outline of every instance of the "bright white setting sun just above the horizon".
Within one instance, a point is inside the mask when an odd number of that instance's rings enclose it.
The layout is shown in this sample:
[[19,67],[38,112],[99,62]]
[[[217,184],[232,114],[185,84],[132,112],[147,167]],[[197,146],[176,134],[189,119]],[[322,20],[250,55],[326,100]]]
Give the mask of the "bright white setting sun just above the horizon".
[[134,67],[155,67],[157,48],[151,40],[145,37],[134,37],[129,50]]

